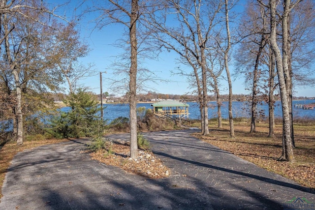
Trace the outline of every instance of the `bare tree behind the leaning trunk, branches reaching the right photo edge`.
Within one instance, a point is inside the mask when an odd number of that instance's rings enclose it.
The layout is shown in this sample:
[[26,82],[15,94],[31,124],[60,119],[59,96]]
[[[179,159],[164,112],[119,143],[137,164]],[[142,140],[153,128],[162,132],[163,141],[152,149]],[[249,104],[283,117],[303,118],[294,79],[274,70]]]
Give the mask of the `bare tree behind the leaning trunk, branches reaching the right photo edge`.
[[315,2],[312,0],[305,0],[301,3],[300,0],[292,1],[289,4],[290,8],[286,9],[289,12],[284,10],[283,13],[287,20],[282,20],[282,24],[286,26],[287,33],[283,32],[284,42],[282,48],[284,62],[287,60],[288,65],[285,83],[288,90],[293,147],[295,147],[292,106],[293,88],[298,85],[314,86],[315,84],[314,78],[310,77],[313,72],[311,63],[314,63],[313,60],[315,58],[315,49],[313,47],[315,42],[313,30],[315,27],[315,12],[312,9],[314,6]]

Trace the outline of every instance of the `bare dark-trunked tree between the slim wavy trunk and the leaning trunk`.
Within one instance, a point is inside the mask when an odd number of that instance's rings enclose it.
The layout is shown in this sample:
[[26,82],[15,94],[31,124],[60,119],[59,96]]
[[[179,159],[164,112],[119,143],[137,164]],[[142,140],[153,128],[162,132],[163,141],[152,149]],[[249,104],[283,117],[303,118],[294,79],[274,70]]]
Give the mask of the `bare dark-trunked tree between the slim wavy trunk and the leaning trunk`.
[[[252,81],[251,133],[253,133],[256,131],[257,103],[261,100],[259,96],[262,94],[258,87],[262,76],[262,71],[260,70],[261,62],[264,57],[263,50],[268,40],[265,8],[259,4],[249,3],[240,28],[242,36],[245,38],[240,43],[240,50],[235,59],[237,60],[238,68],[244,66],[245,74],[248,75],[247,81]],[[244,73],[244,71],[239,71],[239,73]]]

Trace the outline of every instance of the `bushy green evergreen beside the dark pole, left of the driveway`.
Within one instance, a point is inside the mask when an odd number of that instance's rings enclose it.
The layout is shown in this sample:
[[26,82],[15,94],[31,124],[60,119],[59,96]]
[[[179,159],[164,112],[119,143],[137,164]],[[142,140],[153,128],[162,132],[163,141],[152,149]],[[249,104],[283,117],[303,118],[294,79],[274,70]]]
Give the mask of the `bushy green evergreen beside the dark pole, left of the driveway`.
[[95,96],[79,89],[63,101],[71,107],[51,119],[48,132],[56,138],[102,136],[104,122],[100,120],[100,107]]

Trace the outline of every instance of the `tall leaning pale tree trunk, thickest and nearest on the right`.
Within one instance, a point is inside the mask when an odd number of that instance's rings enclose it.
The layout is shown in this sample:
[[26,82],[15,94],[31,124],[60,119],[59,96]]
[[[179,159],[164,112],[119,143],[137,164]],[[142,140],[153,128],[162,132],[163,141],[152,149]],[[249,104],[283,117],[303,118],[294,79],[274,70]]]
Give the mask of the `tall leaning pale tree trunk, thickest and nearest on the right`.
[[[284,79],[284,65],[283,59],[281,58],[281,52],[279,50],[277,44],[277,31],[276,31],[276,0],[270,0],[270,44],[271,49],[274,52],[277,71],[278,71],[278,79],[280,86],[280,95],[281,95],[281,103],[282,103],[282,113],[283,113],[283,153],[281,159],[286,159],[287,161],[294,161],[294,155],[292,150],[292,142],[291,142],[291,129],[290,129],[290,116],[289,116],[289,105],[287,98],[287,90],[285,86]],[[285,18],[285,17],[283,17]],[[283,26],[283,30],[287,30],[285,26]]]

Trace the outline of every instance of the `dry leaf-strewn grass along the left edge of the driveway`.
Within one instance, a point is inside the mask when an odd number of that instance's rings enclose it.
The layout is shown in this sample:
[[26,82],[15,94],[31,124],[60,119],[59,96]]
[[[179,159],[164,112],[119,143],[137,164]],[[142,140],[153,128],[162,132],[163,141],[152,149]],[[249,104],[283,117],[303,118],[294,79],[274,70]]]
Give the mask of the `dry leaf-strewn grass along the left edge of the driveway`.
[[25,141],[22,146],[17,146],[16,143],[6,143],[0,150],[0,198],[2,197],[1,190],[5,174],[7,172],[8,167],[11,164],[11,160],[13,159],[14,155],[23,150],[30,150],[32,148],[39,147],[42,145],[55,144],[64,141],[68,140],[49,139]]

